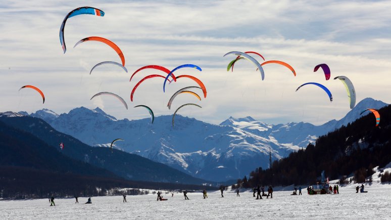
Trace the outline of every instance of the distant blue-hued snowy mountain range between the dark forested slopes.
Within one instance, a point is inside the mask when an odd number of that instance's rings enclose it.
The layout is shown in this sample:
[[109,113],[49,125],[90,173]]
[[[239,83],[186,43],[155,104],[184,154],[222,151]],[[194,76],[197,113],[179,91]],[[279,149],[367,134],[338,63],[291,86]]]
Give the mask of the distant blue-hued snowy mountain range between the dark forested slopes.
[[305,122],[266,124],[251,117],[228,118],[220,125],[177,115],[175,127],[171,115],[140,120],[123,119],[106,114],[99,108],[84,107],[57,115],[40,110],[31,116],[39,117],[57,130],[91,146],[110,146],[136,153],[149,159],[184,170],[194,177],[223,181],[242,178],[255,167],[267,168],[269,148],[272,159],[306,147],[318,136],[360,117],[366,108],[381,108],[387,104],[366,98],[344,118],[315,126]]

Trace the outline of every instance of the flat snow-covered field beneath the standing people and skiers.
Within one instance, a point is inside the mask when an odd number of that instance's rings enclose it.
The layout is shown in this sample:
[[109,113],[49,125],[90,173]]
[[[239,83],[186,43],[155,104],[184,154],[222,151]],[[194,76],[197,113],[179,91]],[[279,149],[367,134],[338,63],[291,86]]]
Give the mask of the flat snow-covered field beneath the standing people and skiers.
[[[168,201],[156,201],[157,195],[92,197],[0,201],[0,219],[390,219],[389,185],[367,186],[368,193],[355,193],[353,186],[340,188],[337,195],[290,196],[291,191],[275,192],[273,199],[256,200],[252,193],[164,194]],[[304,191],[303,191],[304,192]]]

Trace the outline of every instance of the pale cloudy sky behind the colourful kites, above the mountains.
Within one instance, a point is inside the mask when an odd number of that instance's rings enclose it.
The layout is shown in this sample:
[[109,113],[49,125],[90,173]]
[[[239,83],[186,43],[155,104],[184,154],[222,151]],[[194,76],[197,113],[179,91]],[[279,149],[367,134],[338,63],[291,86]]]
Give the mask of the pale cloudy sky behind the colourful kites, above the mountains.
[[[65,25],[67,52],[64,54],[59,30],[73,9],[90,6],[105,12],[104,17],[79,15]],[[391,103],[391,1],[2,1],[0,3],[0,112],[35,112],[42,108],[58,114],[84,106],[99,107],[116,118],[149,117],[143,108],[151,107],[155,116],[179,114],[210,123],[228,117],[252,116],[266,123],[305,121],[322,124],[344,117],[349,98],[344,85],[335,76],[344,75],[355,86],[357,102],[371,97]],[[114,65],[90,69],[103,61],[121,62],[117,53],[102,42],[75,43],[88,36],[101,36],[115,42],[125,57],[126,73]],[[255,51],[266,60],[290,64],[287,68],[264,66],[265,79],[249,61],[238,61],[234,71],[227,64],[235,56],[230,51]],[[261,59],[256,58],[259,62]],[[316,65],[326,63],[331,70],[325,80]],[[167,108],[170,97],[179,89],[194,86],[181,78],[166,85],[163,78],[145,80],[130,92],[144,76],[162,74],[142,70],[131,81],[131,74],[146,65],[170,70],[182,64],[202,68],[178,70],[176,75],[193,75],[208,91],[199,101],[181,94]],[[333,101],[317,86],[331,91]],[[30,84],[45,94],[45,103]],[[115,98],[121,96],[129,109]]]

